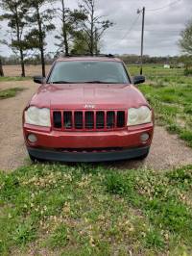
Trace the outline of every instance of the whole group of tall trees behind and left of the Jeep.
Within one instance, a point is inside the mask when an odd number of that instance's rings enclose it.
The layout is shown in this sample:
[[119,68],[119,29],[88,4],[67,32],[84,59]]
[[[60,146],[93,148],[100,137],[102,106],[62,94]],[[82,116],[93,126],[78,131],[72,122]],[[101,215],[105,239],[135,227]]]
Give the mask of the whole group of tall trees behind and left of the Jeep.
[[[7,20],[10,34],[0,38],[0,43],[12,49],[16,56],[12,64],[21,65],[23,77],[29,62],[40,63],[45,76],[45,64],[50,59],[46,56],[46,39],[51,32],[55,31],[58,47],[54,57],[60,53],[94,55],[100,52],[101,38],[113,25],[97,15],[96,0],[80,0],[74,10],[65,6],[65,0],[0,0],[0,9],[0,22]],[[2,63],[9,62],[9,58],[0,58],[1,76]]]

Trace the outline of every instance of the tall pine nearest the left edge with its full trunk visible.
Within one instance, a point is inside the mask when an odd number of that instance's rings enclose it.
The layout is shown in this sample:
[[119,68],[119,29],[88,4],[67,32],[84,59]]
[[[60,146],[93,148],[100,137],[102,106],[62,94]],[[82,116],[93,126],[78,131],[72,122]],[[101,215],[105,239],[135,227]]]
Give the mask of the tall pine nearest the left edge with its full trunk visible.
[[25,64],[24,64],[24,48],[25,42],[23,40],[23,32],[26,26],[25,16],[28,12],[26,3],[22,0],[1,0],[3,10],[6,12],[2,18],[7,19],[8,27],[11,29],[12,42],[8,44],[14,53],[19,53],[21,64],[21,76],[25,77]]

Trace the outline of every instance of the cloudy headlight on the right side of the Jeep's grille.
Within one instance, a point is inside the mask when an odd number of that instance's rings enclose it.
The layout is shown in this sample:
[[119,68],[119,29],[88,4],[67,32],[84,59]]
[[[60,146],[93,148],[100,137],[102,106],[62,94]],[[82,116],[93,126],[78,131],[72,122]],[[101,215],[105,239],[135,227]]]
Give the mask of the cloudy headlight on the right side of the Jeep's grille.
[[138,109],[131,108],[128,110],[128,126],[149,123],[152,121],[152,111],[142,106]]

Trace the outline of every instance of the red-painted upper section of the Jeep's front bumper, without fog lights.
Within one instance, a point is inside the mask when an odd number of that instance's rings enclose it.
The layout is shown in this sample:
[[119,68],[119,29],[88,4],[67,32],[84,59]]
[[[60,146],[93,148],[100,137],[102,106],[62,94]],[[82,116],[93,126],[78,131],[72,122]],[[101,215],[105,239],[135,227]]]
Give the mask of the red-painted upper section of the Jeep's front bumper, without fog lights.
[[[144,132],[150,134],[150,140],[146,143],[140,141],[140,135]],[[29,143],[27,136],[35,134],[36,144]],[[135,129],[111,132],[60,132],[37,130],[36,126],[24,125],[25,141],[28,146],[46,148],[104,148],[104,147],[137,147],[150,145],[153,138],[153,124],[139,125]]]

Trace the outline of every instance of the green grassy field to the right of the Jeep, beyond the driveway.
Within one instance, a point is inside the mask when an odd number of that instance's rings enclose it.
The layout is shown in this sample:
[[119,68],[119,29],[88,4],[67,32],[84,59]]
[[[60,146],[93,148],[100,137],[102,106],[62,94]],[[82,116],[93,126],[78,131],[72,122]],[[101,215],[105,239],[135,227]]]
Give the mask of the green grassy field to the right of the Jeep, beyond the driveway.
[[[138,71],[131,66],[132,74]],[[155,109],[156,122],[192,147],[192,77],[185,77],[182,69],[153,65],[145,66],[144,74],[147,82],[139,89]]]

